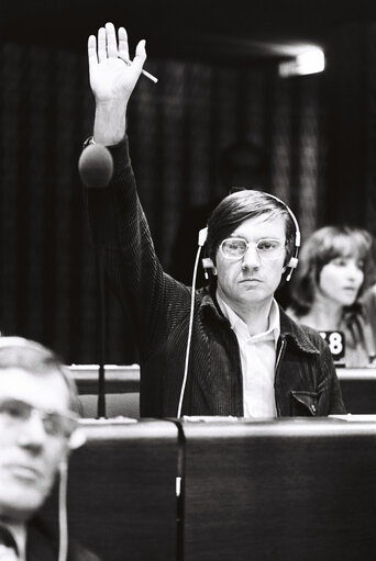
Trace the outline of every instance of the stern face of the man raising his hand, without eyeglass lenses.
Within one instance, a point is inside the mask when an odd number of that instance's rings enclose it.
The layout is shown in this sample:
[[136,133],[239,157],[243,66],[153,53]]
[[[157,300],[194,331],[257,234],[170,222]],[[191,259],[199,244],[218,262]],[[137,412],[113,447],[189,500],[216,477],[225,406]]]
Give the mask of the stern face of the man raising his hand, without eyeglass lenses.
[[[257,216],[244,221],[230,236],[248,243],[242,258],[226,259],[217,250],[215,267],[218,291],[230,307],[254,306],[272,301],[285,271],[285,218],[284,216]],[[281,250],[278,257],[267,259],[256,249],[263,239],[276,240]]]

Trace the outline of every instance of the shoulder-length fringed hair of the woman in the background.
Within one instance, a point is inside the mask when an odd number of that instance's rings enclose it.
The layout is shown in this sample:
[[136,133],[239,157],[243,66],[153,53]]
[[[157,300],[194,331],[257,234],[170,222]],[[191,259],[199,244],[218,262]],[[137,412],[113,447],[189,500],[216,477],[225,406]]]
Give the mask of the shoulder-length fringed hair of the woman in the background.
[[368,285],[373,268],[372,235],[349,226],[325,226],[317,229],[303,244],[299,266],[291,283],[291,307],[300,316],[308,313],[319,287],[322,268],[336,257],[354,257],[364,261],[364,282]]

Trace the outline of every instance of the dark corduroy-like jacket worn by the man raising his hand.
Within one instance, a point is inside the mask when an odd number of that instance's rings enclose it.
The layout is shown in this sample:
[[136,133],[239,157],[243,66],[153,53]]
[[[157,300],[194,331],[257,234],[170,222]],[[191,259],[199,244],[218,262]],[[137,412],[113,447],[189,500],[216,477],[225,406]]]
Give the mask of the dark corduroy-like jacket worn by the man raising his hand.
[[[110,186],[87,193],[92,237],[97,251],[104,256],[114,293],[132,317],[140,348],[141,416],[176,416],[191,290],[166,274],[155,255],[126,138],[110,150],[114,161]],[[327,344],[283,311],[280,316],[275,378],[278,416],[344,413]],[[243,416],[236,336],[209,288],[196,292],[193,317],[183,414]]]

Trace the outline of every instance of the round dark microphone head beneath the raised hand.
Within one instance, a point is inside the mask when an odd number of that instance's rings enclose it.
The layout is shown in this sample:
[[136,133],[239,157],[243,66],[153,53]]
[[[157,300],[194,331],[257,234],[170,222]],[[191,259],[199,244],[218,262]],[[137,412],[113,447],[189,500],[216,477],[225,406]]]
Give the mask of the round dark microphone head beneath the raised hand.
[[113,173],[113,160],[109,149],[102,144],[89,144],[79,157],[78,171],[86,187],[107,187]]

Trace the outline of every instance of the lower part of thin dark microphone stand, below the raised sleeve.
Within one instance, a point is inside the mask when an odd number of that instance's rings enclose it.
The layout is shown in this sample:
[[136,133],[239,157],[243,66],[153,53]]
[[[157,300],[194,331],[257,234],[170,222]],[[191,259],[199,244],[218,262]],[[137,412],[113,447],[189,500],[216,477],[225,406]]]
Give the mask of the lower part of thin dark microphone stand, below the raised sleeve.
[[99,248],[97,257],[98,270],[98,418],[106,418],[106,280],[104,280],[104,256]]

